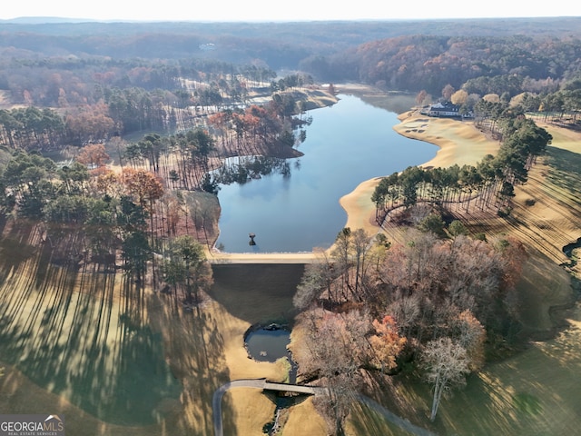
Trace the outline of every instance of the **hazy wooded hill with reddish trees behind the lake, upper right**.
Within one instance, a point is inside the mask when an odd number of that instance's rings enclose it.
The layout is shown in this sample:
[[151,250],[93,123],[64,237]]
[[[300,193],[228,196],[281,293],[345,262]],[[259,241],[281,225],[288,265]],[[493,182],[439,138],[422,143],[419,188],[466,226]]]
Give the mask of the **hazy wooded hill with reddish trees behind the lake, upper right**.
[[409,92],[438,94],[446,84],[468,84],[470,93],[515,95],[573,78],[579,54],[576,37],[400,35],[306,59],[300,67],[319,80]]

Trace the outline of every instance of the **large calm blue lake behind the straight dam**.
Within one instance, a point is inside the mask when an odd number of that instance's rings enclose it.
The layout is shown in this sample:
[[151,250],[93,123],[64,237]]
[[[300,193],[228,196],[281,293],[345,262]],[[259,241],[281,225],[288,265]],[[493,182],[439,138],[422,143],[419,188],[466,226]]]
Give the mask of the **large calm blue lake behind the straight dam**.
[[[437,152],[435,145],[397,134],[392,128],[399,124],[397,114],[352,95],[340,95],[338,104],[309,114],[312,124],[299,147],[304,156],[289,160],[290,175],[221,185],[217,245],[223,251],[328,248],[347,223],[340,197],[365,180],[425,163]],[[254,246],[249,233],[256,234]]]

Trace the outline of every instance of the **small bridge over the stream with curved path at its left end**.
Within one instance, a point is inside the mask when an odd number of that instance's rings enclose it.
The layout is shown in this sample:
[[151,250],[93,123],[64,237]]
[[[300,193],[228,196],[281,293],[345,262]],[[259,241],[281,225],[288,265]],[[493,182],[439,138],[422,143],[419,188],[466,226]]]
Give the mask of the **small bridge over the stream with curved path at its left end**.
[[271,383],[270,381],[266,381],[266,379],[229,381],[214,391],[212,398],[214,436],[222,436],[224,434],[222,428],[222,397],[224,396],[224,393],[229,391],[231,388],[256,388],[263,391],[296,392],[306,395],[326,395],[329,392],[327,388],[301,386],[299,384]]

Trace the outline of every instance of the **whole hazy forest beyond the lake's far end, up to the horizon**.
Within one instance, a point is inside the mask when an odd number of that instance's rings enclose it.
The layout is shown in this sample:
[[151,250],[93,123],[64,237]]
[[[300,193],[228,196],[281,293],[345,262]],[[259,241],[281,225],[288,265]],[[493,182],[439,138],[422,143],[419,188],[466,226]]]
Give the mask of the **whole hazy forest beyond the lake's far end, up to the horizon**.
[[529,110],[569,111],[581,68],[577,21],[3,23],[0,107],[52,108],[64,123],[51,135],[67,131],[78,143],[172,132],[184,116],[243,102],[250,87],[301,72],[319,83],[423,91],[433,100],[446,86],[471,100],[530,94],[537,101]]

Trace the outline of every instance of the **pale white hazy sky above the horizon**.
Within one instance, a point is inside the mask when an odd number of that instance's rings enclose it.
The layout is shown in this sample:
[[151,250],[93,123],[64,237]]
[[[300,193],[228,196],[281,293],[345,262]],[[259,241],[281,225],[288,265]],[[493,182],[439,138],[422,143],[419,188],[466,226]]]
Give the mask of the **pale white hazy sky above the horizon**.
[[[345,5],[345,6],[343,6]],[[354,6],[356,5],[356,7]],[[581,16],[581,2],[531,0],[484,2],[438,0],[7,0],[0,19],[61,16],[99,20],[147,21],[297,21],[359,19],[426,19],[467,17]]]

